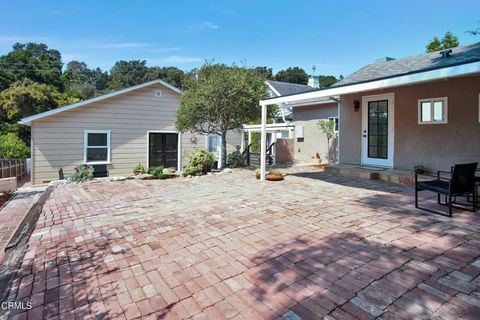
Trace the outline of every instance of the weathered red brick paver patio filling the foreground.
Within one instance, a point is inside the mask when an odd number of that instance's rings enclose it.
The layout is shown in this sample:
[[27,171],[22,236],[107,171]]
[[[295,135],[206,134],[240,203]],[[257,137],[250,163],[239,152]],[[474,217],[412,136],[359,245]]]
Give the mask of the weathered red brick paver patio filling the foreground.
[[480,214],[299,173],[61,185],[10,301],[25,319],[474,319]]

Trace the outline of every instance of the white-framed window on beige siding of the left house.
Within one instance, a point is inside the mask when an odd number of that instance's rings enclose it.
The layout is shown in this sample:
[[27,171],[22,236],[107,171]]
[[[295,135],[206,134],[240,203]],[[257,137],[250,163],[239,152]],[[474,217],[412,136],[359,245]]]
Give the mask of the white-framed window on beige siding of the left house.
[[110,130],[85,130],[83,139],[86,164],[110,163]]

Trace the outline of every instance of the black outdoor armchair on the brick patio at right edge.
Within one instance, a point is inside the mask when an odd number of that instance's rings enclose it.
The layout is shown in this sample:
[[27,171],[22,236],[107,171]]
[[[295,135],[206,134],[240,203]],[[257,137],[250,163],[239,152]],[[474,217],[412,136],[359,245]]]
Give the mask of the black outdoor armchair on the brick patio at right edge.
[[[450,172],[437,171],[435,180],[418,181],[418,174],[415,173],[415,208],[422,209],[429,212],[443,214],[442,212],[420,208],[418,206],[418,192],[431,191],[437,193],[437,202],[441,205],[448,205],[448,215],[452,216],[453,203],[456,202],[457,196],[473,196],[472,201],[473,212],[477,210],[476,204],[476,187],[475,187],[475,171],[478,163],[466,163],[455,165]],[[443,177],[442,174],[448,174],[449,177]],[[435,177],[435,176],[433,176]],[[440,202],[440,194],[445,196],[445,203]],[[455,206],[456,207],[456,206]],[[465,209],[465,208],[462,208]]]

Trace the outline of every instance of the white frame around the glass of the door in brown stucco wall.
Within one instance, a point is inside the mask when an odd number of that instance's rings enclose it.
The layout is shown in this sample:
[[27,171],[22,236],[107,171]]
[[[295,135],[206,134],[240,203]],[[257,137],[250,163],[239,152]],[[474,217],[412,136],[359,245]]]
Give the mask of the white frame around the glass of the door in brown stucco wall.
[[[388,150],[387,159],[368,157],[368,102],[377,100],[388,100]],[[366,133],[366,137],[364,137]],[[373,165],[393,168],[395,150],[395,94],[385,93],[371,96],[362,96],[362,165]]]

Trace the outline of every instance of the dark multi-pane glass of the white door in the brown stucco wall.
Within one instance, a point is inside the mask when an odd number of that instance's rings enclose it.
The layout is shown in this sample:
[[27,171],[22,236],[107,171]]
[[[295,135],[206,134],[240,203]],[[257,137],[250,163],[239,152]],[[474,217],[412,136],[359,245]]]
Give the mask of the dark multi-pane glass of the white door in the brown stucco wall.
[[388,158],[388,100],[368,103],[368,157]]

